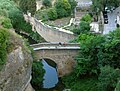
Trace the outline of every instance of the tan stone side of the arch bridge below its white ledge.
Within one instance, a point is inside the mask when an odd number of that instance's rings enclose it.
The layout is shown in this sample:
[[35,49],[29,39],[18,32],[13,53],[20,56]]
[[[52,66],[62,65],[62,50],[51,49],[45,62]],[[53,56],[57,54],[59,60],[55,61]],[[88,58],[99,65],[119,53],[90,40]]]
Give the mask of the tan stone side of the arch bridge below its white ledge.
[[78,49],[47,49],[35,51],[36,60],[50,59],[57,64],[58,76],[62,77],[72,72],[75,67],[75,57],[78,54]]

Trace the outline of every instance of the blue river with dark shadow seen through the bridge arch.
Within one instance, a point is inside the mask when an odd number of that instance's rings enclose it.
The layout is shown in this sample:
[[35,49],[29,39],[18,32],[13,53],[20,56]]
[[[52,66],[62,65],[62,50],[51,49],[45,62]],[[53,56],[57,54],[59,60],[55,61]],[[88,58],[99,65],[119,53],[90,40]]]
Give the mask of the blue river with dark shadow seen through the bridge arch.
[[58,78],[57,66],[51,60],[42,60],[43,69],[46,73],[44,75],[43,89],[40,91],[63,91],[64,85],[60,78]]

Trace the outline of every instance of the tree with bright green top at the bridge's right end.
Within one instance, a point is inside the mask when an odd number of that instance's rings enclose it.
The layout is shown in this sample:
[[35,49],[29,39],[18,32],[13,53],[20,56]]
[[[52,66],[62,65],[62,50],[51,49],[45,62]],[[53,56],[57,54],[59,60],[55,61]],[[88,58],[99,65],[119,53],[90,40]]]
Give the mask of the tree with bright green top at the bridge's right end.
[[97,74],[99,72],[98,57],[99,48],[105,42],[104,36],[93,34],[80,34],[78,40],[81,50],[76,58],[76,74]]

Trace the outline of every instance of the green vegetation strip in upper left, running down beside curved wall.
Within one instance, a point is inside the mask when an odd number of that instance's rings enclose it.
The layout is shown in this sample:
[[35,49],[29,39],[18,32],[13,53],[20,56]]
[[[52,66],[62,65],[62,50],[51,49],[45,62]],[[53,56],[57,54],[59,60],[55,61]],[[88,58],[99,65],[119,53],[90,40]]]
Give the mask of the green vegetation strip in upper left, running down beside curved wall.
[[32,26],[24,20],[23,12],[13,1],[0,0],[0,15],[11,20],[12,26],[16,32],[20,33],[22,31],[28,33],[29,36],[37,42],[44,41],[37,32],[32,31]]

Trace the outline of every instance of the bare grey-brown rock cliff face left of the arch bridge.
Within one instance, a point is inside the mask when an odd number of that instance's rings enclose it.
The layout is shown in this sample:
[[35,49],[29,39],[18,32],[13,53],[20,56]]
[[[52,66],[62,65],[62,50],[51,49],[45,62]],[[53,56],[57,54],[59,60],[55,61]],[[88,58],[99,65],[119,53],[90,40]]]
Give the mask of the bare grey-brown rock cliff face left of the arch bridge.
[[0,71],[0,91],[25,91],[31,80],[31,52],[14,32],[9,41],[6,64]]

